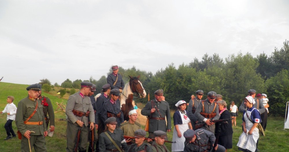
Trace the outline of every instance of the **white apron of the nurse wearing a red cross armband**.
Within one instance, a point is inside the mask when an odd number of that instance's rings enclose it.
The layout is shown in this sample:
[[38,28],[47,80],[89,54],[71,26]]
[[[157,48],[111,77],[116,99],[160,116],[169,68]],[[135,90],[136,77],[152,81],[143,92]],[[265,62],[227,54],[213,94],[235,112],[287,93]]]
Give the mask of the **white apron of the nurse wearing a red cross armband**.
[[[252,111],[248,111],[247,110],[247,115],[248,115],[249,118],[251,118]],[[245,120],[245,123],[246,123],[246,132],[247,133],[245,134],[244,132],[242,132],[242,134],[239,137],[239,142],[238,142],[237,146],[242,148],[242,149],[248,149],[249,151],[255,152],[255,150],[257,148],[256,147],[256,143],[257,143],[257,140],[259,138],[259,129],[257,127],[255,127],[255,129],[253,130],[253,133],[251,135],[248,134],[249,130],[254,125],[250,121],[251,119],[249,120],[248,117],[246,116],[246,114],[244,115],[244,120]]]

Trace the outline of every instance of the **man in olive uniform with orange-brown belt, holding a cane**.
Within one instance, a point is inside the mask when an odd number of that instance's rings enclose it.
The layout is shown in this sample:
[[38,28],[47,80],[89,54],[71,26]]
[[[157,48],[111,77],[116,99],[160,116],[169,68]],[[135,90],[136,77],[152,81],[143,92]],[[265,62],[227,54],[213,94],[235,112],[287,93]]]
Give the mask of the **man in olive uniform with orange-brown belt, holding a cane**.
[[[30,85],[26,88],[26,90],[28,91],[28,96],[19,101],[15,118],[17,129],[22,134],[21,151],[30,151],[28,144],[29,139],[30,146],[34,147],[36,152],[46,152],[47,149],[45,146],[44,137],[47,136],[47,128],[43,114],[43,106],[37,99],[40,95],[39,91],[41,90],[41,86],[40,84]],[[31,116],[35,109],[36,112],[34,115],[26,123],[24,123],[24,121]]]

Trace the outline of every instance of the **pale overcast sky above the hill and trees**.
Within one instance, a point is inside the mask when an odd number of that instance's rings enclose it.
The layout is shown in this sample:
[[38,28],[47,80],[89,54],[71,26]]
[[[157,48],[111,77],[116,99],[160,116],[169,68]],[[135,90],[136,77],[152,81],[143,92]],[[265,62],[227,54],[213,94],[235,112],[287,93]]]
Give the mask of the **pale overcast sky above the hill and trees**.
[[289,1],[1,0],[1,82],[98,80],[111,65],[155,73],[195,57],[271,55]]

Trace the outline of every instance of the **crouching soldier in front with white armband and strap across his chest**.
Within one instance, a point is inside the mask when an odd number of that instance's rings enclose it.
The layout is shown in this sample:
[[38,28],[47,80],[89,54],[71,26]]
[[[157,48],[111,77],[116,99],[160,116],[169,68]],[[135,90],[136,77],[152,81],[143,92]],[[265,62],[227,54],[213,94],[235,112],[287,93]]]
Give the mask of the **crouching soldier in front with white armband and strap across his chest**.
[[[99,151],[100,152],[119,152],[118,148],[122,151],[127,151],[127,143],[123,137],[123,131],[116,129],[117,121],[115,117],[110,117],[104,122],[107,130],[99,136]],[[114,145],[114,143],[116,145]]]

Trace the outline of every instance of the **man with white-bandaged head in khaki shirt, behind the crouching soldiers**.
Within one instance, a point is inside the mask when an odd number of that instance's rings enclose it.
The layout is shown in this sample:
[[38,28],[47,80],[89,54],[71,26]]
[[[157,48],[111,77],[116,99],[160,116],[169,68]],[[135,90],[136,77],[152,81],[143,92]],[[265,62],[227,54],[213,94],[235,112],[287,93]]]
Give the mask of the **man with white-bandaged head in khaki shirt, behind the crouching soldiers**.
[[138,118],[138,113],[136,110],[130,110],[128,113],[129,120],[121,124],[120,129],[123,130],[123,135],[125,136],[134,136],[134,132],[138,129],[141,129],[141,125],[136,122]]

